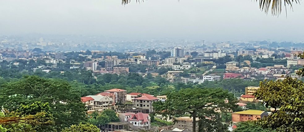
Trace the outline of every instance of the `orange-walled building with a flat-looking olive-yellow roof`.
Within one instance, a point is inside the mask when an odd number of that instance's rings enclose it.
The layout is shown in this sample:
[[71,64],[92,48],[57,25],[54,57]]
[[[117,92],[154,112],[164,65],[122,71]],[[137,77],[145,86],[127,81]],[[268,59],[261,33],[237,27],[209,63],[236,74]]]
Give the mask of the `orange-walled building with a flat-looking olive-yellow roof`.
[[256,121],[258,119],[268,116],[268,113],[266,111],[252,110],[252,109],[234,112],[231,114],[232,114],[232,122]]

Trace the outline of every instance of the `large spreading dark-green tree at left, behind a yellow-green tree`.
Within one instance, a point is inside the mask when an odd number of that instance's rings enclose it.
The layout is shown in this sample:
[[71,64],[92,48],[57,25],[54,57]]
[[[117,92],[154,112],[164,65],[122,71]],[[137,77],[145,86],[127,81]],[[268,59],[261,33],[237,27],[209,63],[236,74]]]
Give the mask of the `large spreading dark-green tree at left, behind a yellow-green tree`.
[[4,84],[0,89],[3,109],[17,111],[21,104],[35,101],[49,103],[58,130],[86,121],[86,108],[80,95],[66,81],[25,76],[19,81]]

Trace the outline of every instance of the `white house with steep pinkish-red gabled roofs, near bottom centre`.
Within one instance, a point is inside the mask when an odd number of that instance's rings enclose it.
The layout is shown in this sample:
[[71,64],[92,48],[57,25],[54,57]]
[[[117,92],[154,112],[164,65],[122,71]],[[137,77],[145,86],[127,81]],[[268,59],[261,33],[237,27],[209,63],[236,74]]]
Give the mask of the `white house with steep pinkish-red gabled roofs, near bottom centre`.
[[151,117],[149,116],[149,114],[133,114],[130,118],[127,119],[127,121],[132,123],[133,126],[142,127],[145,130],[150,129]]

